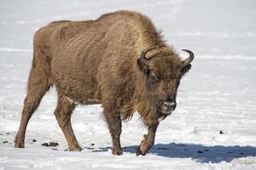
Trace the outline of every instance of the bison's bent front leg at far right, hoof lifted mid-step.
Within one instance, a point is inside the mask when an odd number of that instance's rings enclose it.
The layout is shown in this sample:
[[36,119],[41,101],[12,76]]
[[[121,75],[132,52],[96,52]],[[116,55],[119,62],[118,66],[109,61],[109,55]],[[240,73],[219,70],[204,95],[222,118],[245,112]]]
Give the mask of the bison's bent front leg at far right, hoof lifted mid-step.
[[137,156],[145,156],[148,150],[150,150],[150,148],[154,145],[154,137],[158,125],[159,122],[155,122],[154,124],[148,126],[148,134],[144,134],[144,139],[137,148]]

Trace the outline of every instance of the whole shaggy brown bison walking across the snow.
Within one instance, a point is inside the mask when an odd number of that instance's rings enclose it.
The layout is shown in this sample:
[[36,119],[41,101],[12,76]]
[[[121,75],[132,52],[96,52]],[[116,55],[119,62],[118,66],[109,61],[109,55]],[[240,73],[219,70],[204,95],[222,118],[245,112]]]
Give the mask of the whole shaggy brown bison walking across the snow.
[[143,14],[118,11],[97,20],[61,20],[39,29],[15,147],[24,147],[26,125],[44,94],[55,86],[55,117],[70,150],[82,150],[70,117],[76,105],[102,104],[113,141],[121,155],[121,121],[138,111],[148,134],[137,149],[145,155],[154,144],[161,119],[176,107],[177,87],[194,54],[182,60]]

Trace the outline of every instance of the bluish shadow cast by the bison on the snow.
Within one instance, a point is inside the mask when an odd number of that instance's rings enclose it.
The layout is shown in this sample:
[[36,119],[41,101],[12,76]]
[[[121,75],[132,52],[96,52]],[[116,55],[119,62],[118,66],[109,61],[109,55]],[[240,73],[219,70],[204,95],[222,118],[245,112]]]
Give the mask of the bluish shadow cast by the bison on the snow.
[[[92,152],[104,152],[111,149],[111,147],[105,148],[84,148],[92,150]],[[124,153],[129,152],[136,154],[137,146],[123,147]],[[233,159],[256,156],[256,147],[253,146],[204,146],[202,144],[154,144],[150,154],[156,156],[164,156],[169,158],[191,158],[194,161],[201,163],[219,163],[220,161],[230,162]]]

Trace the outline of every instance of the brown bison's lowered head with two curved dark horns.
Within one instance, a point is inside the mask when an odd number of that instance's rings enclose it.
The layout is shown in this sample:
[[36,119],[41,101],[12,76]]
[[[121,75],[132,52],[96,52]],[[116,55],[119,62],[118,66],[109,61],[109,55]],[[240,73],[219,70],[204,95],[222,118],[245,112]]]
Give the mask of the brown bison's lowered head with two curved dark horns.
[[194,54],[188,49],[188,59],[180,59],[172,48],[148,48],[137,59],[138,68],[145,75],[146,97],[160,115],[170,115],[176,108],[179,82],[191,68]]

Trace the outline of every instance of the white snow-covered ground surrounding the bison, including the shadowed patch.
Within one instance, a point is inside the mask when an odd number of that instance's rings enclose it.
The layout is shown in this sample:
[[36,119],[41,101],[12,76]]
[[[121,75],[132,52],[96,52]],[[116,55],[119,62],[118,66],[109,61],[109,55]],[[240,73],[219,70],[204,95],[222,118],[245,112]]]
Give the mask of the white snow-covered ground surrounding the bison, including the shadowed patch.
[[[124,155],[113,156],[101,105],[74,111],[84,150],[65,151],[54,89],[28,124],[26,149],[15,149],[33,33],[53,20],[96,19],[118,9],[147,14],[177,50],[195,52],[177,110],[160,123],[150,153],[136,156],[146,129],[135,116],[123,123]],[[256,169],[255,9],[253,0],[0,0],[0,169]]]

